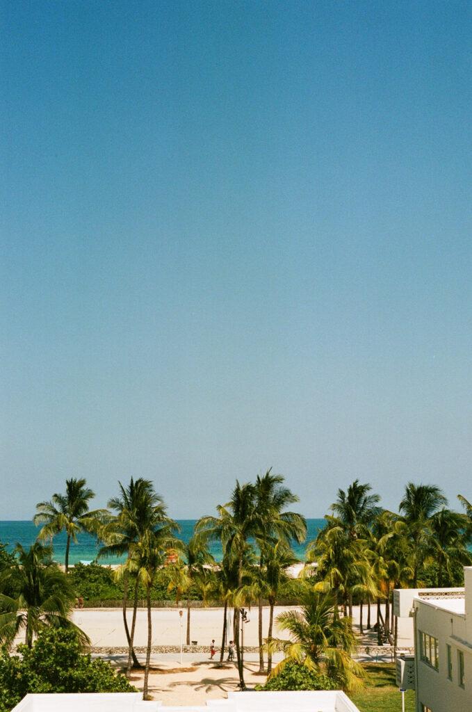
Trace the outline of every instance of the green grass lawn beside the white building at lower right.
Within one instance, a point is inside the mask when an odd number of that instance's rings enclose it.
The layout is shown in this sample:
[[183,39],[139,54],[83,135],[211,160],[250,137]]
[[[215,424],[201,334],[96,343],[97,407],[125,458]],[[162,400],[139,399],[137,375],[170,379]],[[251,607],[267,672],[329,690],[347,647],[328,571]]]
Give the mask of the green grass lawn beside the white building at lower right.
[[[366,663],[369,679],[362,692],[352,694],[360,712],[402,712],[402,693],[395,684],[394,663]],[[405,712],[414,712],[414,690],[405,693]]]

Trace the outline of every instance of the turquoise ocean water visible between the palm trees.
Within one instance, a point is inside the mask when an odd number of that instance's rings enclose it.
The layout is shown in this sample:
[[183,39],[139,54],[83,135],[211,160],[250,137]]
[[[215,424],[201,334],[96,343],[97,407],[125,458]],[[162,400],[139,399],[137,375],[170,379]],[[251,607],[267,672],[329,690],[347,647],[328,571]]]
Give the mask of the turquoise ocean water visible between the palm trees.
[[[179,537],[187,542],[192,536],[194,531],[194,524],[196,519],[180,519],[177,523],[180,525]],[[308,535],[306,541],[309,542],[315,539],[318,534],[318,528],[323,528],[325,525],[324,519],[307,519],[308,524]],[[38,535],[38,529],[31,523],[31,520],[27,521],[0,521],[0,542],[7,545],[7,550],[14,550],[16,543],[20,543],[23,548],[28,548],[31,546],[33,541]],[[53,552],[54,559],[60,563],[64,563],[65,560],[65,533],[61,532],[54,537],[53,540]],[[298,545],[293,545],[293,550],[295,555],[297,555],[300,560],[305,558],[305,543]],[[97,540],[88,534],[83,534],[78,537],[78,544],[70,544],[69,552],[69,563],[75,564],[79,561],[93,561],[97,556]],[[211,553],[214,555],[216,560],[221,560],[221,547],[218,543],[211,544]],[[103,559],[103,563],[118,563],[120,560],[117,558]]]

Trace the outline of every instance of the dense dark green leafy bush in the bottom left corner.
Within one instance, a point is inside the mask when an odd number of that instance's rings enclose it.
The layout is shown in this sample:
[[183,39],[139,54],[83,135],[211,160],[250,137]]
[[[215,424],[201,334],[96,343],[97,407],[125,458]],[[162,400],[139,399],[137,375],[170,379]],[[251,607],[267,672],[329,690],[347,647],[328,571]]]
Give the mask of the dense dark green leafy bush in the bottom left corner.
[[0,712],[9,712],[28,692],[135,691],[110,663],[81,654],[73,630],[44,629],[31,649],[21,645],[19,653],[0,653]]

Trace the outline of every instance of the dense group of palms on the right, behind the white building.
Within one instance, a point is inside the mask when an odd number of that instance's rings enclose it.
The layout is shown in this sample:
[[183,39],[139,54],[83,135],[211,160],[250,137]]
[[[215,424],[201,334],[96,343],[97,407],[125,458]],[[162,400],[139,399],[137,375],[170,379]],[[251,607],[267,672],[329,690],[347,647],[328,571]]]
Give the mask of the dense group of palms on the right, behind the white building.
[[340,606],[352,616],[353,601],[360,603],[363,632],[362,606],[367,604],[369,628],[374,603],[378,642],[383,629],[394,644],[394,589],[421,587],[430,570],[437,572],[436,586],[451,585],[458,567],[472,562],[472,508],[459,498],[466,513],[449,509],[439,487],[409,483],[394,513],[379,506],[380,498],[369,484],[355,480],[347,491],[340,489],[325,516],[325,528],[307,545],[307,561],[317,565],[312,570],[314,588],[332,592],[335,617]]

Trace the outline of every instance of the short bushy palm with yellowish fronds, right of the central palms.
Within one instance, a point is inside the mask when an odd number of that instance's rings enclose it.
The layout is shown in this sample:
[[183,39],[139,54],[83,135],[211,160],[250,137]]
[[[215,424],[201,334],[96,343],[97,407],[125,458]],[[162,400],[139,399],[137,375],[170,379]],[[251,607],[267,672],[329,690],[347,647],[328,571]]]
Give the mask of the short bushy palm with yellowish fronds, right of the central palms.
[[332,592],[322,594],[307,585],[301,601],[300,611],[277,617],[278,627],[290,633],[290,640],[273,641],[275,649],[283,650],[284,659],[272,674],[277,675],[287,662],[298,662],[343,689],[355,688],[365,673],[351,657],[356,649],[351,619],[337,617]]

